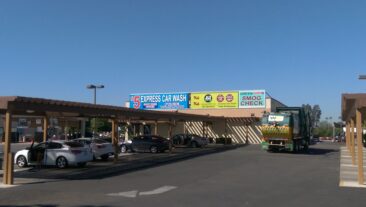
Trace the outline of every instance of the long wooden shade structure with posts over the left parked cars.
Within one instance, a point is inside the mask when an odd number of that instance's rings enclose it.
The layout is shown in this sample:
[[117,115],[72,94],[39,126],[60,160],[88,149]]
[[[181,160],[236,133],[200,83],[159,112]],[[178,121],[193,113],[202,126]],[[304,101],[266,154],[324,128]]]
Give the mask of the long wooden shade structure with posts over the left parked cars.
[[[117,124],[130,121],[200,121],[226,122],[230,117],[187,114],[178,111],[146,111],[119,106],[89,104],[43,98],[31,98],[21,96],[0,97],[0,114],[5,115],[5,144],[4,144],[4,184],[13,184],[12,154],[10,149],[10,137],[12,129],[12,116],[38,116],[43,117],[43,141],[47,139],[47,127],[49,117],[70,118],[108,118],[112,122],[112,142],[115,152],[118,151]],[[254,117],[246,118],[247,123],[257,121]],[[170,125],[172,126],[172,125]],[[205,129],[203,124],[203,129]],[[226,126],[226,125],[225,125]],[[170,127],[171,128],[171,127]],[[171,129],[169,130],[171,133]],[[117,155],[117,153],[115,153]],[[115,156],[115,159],[117,157]]]

